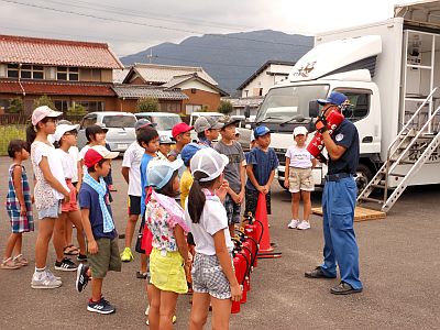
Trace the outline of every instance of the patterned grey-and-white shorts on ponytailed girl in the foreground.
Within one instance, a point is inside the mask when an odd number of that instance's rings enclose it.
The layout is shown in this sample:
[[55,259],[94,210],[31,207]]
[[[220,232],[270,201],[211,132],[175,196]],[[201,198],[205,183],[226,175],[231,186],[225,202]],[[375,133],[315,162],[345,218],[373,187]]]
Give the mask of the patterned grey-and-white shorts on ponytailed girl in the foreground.
[[217,299],[231,298],[231,286],[217,255],[196,253],[191,277],[195,293],[209,294]]

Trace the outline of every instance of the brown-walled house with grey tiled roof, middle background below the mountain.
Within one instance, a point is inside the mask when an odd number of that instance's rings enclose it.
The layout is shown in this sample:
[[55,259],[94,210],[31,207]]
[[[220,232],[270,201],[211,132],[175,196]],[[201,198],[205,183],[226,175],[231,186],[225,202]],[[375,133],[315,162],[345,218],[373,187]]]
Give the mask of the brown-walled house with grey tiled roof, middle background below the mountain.
[[[202,108],[216,111],[220,105],[220,98],[228,96],[201,67],[136,63],[125,76],[123,84],[150,86],[152,90],[156,88],[162,92],[173,91],[176,96],[180,91],[186,98],[182,99],[180,109],[176,109],[176,111],[186,114],[200,111]],[[118,97],[120,96],[118,95]],[[162,99],[158,100],[162,105]],[[169,101],[168,99],[167,102]]]

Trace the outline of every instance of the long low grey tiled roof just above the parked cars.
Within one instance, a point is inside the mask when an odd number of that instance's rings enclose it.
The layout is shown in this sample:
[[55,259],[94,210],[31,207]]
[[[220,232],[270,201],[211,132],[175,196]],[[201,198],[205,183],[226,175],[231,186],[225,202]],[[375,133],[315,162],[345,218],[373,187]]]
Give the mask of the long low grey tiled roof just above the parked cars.
[[114,85],[113,90],[119,98],[139,99],[152,97],[160,100],[186,100],[188,97],[180,90],[164,89],[139,85]]

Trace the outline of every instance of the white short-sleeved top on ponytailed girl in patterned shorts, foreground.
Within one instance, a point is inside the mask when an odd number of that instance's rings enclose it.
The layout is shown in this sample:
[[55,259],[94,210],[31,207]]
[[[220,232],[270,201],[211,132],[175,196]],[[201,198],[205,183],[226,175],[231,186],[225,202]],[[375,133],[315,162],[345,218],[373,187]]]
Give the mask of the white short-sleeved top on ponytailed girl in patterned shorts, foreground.
[[217,196],[207,195],[199,223],[193,223],[188,208],[185,210],[185,220],[191,224],[191,233],[196,242],[197,253],[215,255],[216,245],[213,243],[213,235],[220,230],[224,232],[228,251],[231,252],[233,250],[228,228],[227,211]]

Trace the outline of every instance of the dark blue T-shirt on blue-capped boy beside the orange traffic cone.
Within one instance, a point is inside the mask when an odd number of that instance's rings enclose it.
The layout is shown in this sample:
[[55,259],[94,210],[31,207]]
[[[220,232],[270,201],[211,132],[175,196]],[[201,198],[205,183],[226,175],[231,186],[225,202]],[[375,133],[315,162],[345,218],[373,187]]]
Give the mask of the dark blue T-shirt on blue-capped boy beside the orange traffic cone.
[[[266,152],[262,151],[260,147],[252,148],[248,153],[246,162],[248,165],[252,165],[252,172],[254,173],[256,182],[261,186],[267,184],[272,170],[275,170],[278,167],[278,158],[276,157],[275,151],[272,147],[270,147]],[[249,178],[246,188],[256,190]]]

